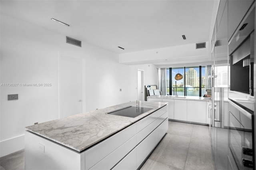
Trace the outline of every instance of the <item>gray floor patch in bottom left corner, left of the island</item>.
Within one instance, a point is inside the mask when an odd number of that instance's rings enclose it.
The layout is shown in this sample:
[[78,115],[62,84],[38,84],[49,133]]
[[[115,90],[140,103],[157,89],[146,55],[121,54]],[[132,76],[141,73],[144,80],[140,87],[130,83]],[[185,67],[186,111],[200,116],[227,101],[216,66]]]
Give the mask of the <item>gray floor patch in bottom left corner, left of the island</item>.
[[5,170],[24,170],[24,149],[1,157],[0,164]]

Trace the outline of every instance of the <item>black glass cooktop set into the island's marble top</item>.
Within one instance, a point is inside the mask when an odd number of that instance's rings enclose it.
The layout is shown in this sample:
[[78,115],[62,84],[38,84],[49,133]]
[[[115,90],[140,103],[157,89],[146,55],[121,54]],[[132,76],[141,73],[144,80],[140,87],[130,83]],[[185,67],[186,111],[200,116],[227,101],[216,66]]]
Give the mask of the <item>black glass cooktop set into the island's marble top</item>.
[[152,108],[127,106],[107,112],[107,114],[125,117],[137,117],[138,115],[141,115],[150,110],[152,110]]

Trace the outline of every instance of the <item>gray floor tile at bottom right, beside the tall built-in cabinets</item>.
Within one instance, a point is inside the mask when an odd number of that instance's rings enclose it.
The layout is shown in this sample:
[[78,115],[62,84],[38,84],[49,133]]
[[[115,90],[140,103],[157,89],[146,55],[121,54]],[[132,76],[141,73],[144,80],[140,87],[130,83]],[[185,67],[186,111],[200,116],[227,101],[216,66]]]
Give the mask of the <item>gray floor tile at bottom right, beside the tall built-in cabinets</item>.
[[211,147],[205,140],[191,138],[184,170],[214,170]]

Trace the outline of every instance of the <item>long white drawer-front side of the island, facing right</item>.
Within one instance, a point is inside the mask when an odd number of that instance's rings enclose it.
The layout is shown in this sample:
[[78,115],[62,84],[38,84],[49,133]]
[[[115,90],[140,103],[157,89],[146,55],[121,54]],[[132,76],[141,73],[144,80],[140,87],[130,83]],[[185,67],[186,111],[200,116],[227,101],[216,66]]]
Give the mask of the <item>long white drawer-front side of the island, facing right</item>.
[[[118,132],[118,134],[87,150],[85,152],[86,170],[92,164],[94,166],[89,168],[89,170],[112,168],[114,170],[137,169],[168,130],[168,105],[134,123],[134,125],[127,129]],[[127,132],[130,132],[131,129],[135,134],[130,133],[126,136]],[[124,141],[126,138],[130,139],[121,146],[116,147],[113,146],[114,144],[110,144],[110,142],[116,143],[116,140],[119,140],[116,136],[122,137],[120,141]],[[112,141],[111,139],[115,140]],[[113,150],[115,147],[116,149]],[[96,164],[95,161],[97,161]]]

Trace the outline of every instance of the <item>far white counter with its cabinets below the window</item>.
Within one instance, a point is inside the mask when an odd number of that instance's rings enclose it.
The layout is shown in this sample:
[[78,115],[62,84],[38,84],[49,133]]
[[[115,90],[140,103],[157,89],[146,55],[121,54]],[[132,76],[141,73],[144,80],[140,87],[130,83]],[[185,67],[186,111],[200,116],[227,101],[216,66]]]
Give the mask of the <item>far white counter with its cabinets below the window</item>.
[[168,102],[170,121],[207,125],[211,98],[198,96],[152,95],[148,101]]

